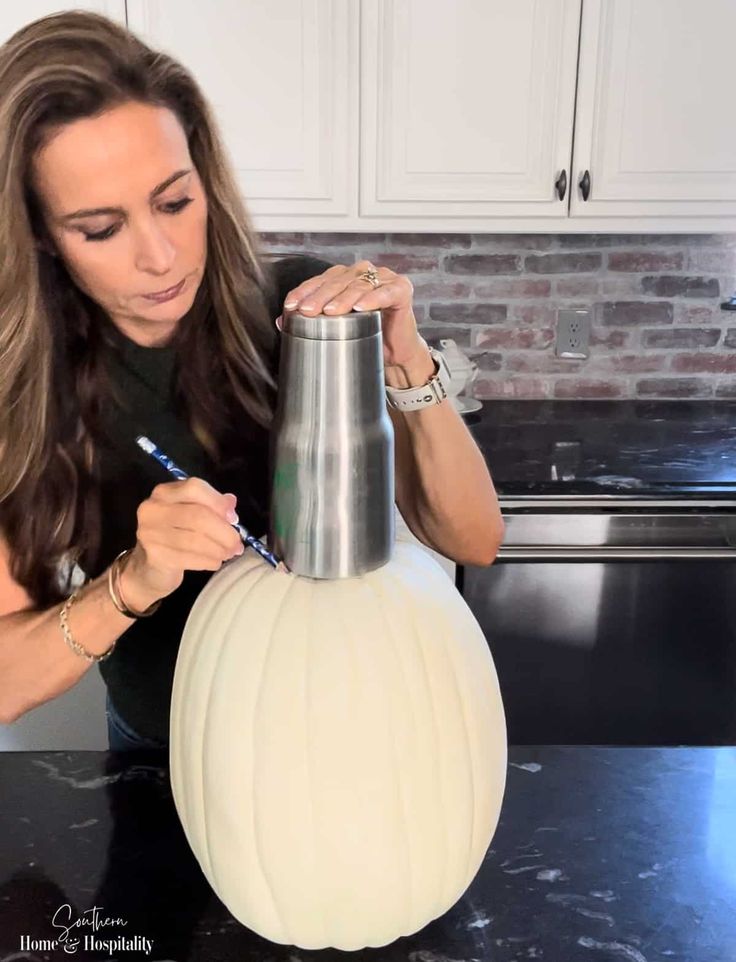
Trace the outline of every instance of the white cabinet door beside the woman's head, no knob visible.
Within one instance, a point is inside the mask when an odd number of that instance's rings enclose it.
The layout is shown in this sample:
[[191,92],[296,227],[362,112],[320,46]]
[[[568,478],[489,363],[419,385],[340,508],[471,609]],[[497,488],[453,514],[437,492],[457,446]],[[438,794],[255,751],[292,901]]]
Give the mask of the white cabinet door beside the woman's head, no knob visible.
[[127,7],[129,28],[201,86],[260,229],[357,216],[358,0]]

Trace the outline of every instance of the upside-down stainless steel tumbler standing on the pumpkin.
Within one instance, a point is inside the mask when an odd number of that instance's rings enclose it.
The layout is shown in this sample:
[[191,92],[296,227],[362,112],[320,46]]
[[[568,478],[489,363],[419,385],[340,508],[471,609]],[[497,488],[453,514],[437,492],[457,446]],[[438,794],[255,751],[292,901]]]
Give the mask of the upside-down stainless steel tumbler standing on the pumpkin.
[[380,568],[394,544],[394,430],[381,315],[284,318],[269,547],[308,578]]

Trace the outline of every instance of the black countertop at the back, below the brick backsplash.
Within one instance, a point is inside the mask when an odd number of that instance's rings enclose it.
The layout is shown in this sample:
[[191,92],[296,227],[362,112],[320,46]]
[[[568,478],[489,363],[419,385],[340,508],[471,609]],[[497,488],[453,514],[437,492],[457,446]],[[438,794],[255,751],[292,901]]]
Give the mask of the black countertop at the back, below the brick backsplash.
[[464,420],[501,496],[736,492],[736,401],[484,401]]

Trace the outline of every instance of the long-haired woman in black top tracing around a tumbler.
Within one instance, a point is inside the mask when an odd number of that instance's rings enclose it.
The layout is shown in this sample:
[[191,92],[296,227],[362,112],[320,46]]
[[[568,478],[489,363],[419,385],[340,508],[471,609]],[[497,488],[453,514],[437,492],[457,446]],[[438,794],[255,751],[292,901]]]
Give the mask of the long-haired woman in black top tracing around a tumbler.
[[[111,747],[163,747],[189,610],[242,551],[236,504],[268,527],[277,315],[380,308],[387,383],[434,363],[407,278],[266,260],[191,75],[103,16],[0,48],[0,179],[0,720],[97,662]],[[391,417],[407,524],[489,564],[498,502],[461,418]],[[192,477],[162,477],[139,433]]]

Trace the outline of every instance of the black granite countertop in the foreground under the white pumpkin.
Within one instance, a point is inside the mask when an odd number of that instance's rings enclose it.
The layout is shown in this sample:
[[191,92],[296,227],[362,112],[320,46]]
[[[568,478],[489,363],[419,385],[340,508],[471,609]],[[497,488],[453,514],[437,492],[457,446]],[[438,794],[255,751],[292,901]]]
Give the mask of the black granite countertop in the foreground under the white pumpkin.
[[[91,923],[94,906],[120,924],[78,932],[139,948],[81,944],[78,959],[347,956],[276,945],[230,915],[186,843],[165,754],[8,752],[0,785],[0,962],[67,957],[21,940],[58,937],[54,917]],[[734,962],[735,799],[734,748],[512,748],[496,835],[460,901],[350,957]]]

